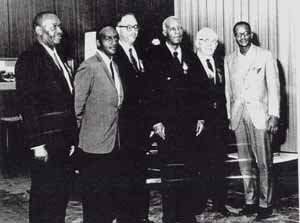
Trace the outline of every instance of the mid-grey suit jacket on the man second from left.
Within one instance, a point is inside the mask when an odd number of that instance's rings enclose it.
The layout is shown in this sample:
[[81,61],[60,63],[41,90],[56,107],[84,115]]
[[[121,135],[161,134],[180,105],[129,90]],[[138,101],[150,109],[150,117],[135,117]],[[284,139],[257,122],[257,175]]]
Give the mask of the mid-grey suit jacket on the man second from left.
[[[119,75],[118,67],[117,74]],[[99,53],[82,62],[74,81],[79,147],[88,153],[110,153],[118,134],[118,93]],[[121,103],[123,88],[121,85]]]

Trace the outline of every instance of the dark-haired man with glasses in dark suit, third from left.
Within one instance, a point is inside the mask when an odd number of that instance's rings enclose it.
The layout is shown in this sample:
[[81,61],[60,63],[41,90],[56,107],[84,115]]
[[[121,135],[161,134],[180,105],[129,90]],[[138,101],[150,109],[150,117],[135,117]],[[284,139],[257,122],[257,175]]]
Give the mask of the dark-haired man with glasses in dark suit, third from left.
[[146,73],[141,49],[135,45],[139,25],[131,13],[118,20],[119,48],[115,55],[124,88],[120,110],[120,153],[123,187],[120,188],[121,223],[148,222],[149,189],[146,187],[146,160],[149,130],[146,128]]

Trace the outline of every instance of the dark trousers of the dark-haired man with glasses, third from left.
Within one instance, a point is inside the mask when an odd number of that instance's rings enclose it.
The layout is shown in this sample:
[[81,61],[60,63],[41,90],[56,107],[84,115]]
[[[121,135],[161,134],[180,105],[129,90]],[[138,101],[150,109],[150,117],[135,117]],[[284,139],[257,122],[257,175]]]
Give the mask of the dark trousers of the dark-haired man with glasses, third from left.
[[117,217],[120,223],[141,222],[148,219],[149,188],[146,185],[146,154],[140,150],[121,151],[120,183]]

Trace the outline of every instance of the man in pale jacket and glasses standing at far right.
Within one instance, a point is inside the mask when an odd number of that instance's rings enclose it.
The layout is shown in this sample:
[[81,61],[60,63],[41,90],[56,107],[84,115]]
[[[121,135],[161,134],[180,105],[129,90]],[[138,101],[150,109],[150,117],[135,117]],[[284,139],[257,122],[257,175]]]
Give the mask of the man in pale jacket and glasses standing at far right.
[[[246,205],[241,215],[272,214],[272,136],[279,122],[280,87],[272,53],[251,43],[247,22],[233,32],[239,49],[225,57],[225,91],[230,128],[235,132]],[[257,208],[257,205],[259,208]]]

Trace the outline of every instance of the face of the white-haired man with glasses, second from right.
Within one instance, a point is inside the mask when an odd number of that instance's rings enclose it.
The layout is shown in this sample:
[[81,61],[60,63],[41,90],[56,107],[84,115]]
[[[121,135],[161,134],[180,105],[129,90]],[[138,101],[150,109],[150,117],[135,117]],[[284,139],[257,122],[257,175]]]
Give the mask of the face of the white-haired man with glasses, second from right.
[[212,36],[198,36],[195,41],[197,51],[204,56],[212,56],[218,46],[218,40]]

